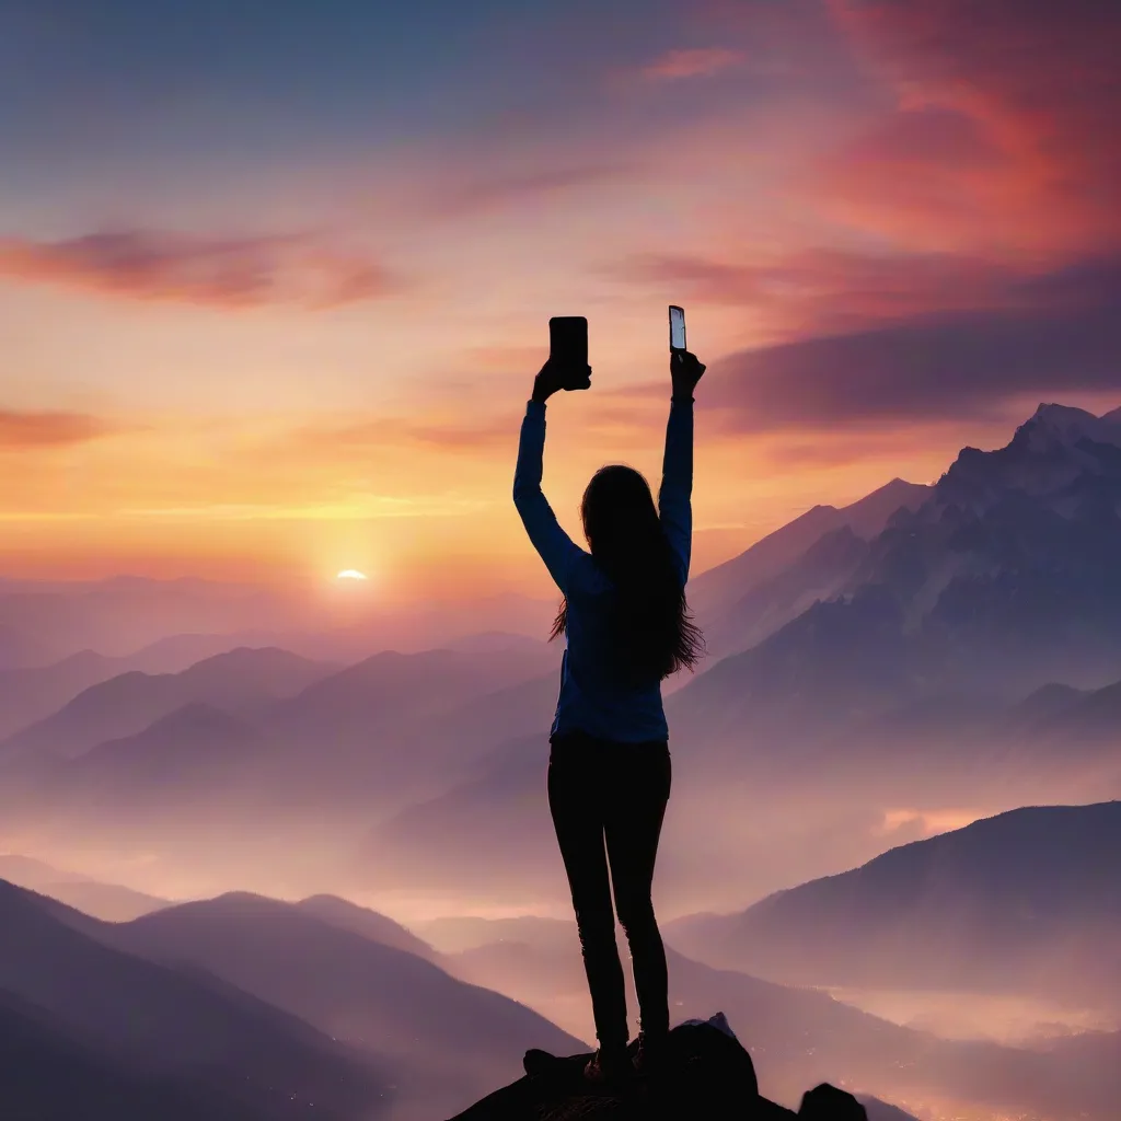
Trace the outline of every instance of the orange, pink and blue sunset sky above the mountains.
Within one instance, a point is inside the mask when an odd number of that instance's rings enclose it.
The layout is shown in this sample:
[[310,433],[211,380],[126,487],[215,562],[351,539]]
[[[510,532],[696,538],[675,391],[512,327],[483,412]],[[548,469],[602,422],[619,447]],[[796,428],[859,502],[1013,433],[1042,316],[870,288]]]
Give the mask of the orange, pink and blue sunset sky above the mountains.
[[1115,0],[0,0],[0,572],[548,592],[510,501],[550,315],[562,521],[696,567],[1121,405]]

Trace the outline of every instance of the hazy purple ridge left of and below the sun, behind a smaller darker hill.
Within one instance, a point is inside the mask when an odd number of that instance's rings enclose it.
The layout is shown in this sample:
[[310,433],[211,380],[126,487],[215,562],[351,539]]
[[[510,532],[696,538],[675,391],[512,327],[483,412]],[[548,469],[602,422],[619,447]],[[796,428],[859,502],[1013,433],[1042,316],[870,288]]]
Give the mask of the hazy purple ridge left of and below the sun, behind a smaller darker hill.
[[293,696],[335,670],[279,649],[240,648],[177,674],[132,670],[80,693],[57,713],[11,736],[8,753],[80,756],[98,743],[143,731],[193,703],[252,713]]

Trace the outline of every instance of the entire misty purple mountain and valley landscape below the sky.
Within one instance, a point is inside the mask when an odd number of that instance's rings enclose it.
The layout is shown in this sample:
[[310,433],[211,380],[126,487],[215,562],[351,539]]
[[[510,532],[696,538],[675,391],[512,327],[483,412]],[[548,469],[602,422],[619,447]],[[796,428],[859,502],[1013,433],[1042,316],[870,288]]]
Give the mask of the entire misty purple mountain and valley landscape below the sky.
[[[1043,406],[691,584],[671,998],[724,1011],[776,1100],[1114,1115],[1119,511],[1121,414]],[[270,594],[0,584],[0,1038],[98,1121],[423,1121],[592,1035],[555,605],[398,641]]]

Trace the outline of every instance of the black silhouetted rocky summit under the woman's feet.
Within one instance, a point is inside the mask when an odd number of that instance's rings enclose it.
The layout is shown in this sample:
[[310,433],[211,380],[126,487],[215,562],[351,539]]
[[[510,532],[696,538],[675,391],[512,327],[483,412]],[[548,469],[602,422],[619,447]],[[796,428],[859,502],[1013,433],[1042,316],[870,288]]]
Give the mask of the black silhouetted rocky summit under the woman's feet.
[[452,1121],[868,1121],[852,1094],[827,1084],[808,1091],[797,1113],[760,1096],[751,1056],[720,1013],[674,1028],[659,1069],[618,1085],[590,1084],[590,1057],[527,1051],[525,1077]]

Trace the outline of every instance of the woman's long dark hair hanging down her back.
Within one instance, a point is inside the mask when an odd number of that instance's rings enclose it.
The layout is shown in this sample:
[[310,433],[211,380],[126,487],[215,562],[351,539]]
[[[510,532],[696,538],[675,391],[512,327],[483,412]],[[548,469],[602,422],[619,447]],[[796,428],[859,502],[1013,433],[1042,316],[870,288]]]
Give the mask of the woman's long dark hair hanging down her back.
[[[621,675],[641,684],[692,669],[704,639],[685,602],[649,483],[633,467],[601,467],[584,491],[580,513],[592,556],[613,585],[608,633]],[[549,640],[567,629],[563,601]]]

